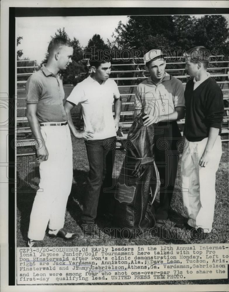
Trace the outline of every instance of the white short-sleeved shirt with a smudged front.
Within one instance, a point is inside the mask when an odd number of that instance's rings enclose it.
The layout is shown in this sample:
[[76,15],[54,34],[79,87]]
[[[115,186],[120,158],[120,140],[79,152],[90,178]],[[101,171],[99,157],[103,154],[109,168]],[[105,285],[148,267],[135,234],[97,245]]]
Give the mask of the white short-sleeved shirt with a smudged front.
[[90,140],[101,140],[116,136],[112,104],[114,98],[119,97],[114,80],[107,79],[99,84],[88,76],[73,88],[67,100],[75,105],[81,103],[84,130],[94,132]]

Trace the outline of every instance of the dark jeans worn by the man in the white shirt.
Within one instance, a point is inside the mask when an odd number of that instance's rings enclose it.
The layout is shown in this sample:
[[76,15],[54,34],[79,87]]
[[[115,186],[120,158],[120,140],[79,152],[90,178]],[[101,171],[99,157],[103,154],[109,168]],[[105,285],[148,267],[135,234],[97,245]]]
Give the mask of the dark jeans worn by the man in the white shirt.
[[82,223],[94,224],[98,204],[101,205],[99,209],[100,213],[103,214],[109,212],[109,209],[113,206],[112,200],[110,200],[113,197],[112,193],[109,191],[104,192],[104,189],[112,188],[113,186],[112,171],[115,140],[116,137],[85,141],[89,161],[89,175],[81,216]]

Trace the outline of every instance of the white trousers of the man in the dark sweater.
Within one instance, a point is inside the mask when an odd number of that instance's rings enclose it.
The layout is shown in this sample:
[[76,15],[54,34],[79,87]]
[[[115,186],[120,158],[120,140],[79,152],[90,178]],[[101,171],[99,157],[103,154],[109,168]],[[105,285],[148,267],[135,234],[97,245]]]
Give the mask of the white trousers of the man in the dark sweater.
[[222,155],[221,138],[216,138],[209,161],[205,167],[199,166],[208,138],[199,142],[189,142],[181,160],[181,187],[188,224],[211,232],[215,208],[216,171]]

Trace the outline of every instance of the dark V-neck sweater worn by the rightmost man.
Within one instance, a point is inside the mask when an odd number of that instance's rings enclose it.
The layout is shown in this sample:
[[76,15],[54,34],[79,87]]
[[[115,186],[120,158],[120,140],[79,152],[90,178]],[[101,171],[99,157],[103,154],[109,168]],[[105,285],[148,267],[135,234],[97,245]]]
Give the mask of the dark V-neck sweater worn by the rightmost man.
[[223,93],[214,79],[209,77],[195,90],[189,80],[185,87],[184,135],[191,142],[208,137],[210,127],[219,128],[223,122]]

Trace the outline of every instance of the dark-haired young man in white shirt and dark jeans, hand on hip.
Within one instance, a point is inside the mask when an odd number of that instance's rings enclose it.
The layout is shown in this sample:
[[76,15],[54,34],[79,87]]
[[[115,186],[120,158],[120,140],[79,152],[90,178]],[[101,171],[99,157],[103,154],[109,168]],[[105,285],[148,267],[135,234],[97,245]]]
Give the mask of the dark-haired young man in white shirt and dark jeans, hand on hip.
[[[107,187],[112,186],[112,149],[115,147],[121,111],[118,86],[114,80],[109,79],[111,59],[107,59],[107,56],[103,55],[94,56],[90,65],[91,76],[73,88],[64,105],[68,116],[68,125],[73,135],[76,138],[85,139],[89,161],[88,189],[81,216],[83,231],[86,234],[94,233],[94,220],[97,216],[99,194],[103,181]],[[84,131],[78,131],[75,128],[70,114],[70,110],[78,103],[82,106]],[[105,185],[103,184],[103,187]],[[107,210],[102,210],[102,212],[106,213]]]

